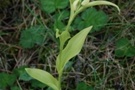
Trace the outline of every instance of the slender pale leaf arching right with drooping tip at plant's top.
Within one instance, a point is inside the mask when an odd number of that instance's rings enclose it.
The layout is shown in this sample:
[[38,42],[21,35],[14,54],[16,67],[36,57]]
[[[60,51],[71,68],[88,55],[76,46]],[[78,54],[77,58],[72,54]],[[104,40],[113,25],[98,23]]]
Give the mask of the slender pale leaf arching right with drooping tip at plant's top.
[[82,5],[83,5],[85,8],[93,7],[93,6],[97,6],[97,5],[111,5],[111,6],[116,7],[117,10],[118,10],[119,13],[120,13],[119,7],[118,7],[116,4],[111,3],[111,2],[109,2],[109,1],[100,0],[100,1],[91,1],[91,2],[89,2],[89,3],[88,3],[88,2],[85,2],[85,1],[88,1],[88,0],[84,0],[84,1],[82,2]]

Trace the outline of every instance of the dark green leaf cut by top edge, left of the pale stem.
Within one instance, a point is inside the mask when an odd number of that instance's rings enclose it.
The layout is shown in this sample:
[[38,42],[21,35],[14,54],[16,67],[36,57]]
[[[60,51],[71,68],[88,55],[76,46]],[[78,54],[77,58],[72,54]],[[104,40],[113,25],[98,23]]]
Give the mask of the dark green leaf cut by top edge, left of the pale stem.
[[52,13],[56,9],[66,8],[68,0],[40,0],[41,8],[47,13]]

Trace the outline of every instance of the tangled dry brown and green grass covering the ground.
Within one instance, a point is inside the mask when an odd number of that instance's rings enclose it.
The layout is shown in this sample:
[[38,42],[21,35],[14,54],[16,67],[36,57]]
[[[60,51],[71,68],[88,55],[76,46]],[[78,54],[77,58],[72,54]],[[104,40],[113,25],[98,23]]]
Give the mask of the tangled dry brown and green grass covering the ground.
[[[90,34],[81,53],[67,65],[64,90],[75,90],[79,81],[91,85],[94,90],[135,90],[135,56],[116,57],[114,54],[115,42],[121,37],[129,38],[135,46],[135,1],[112,2],[121,8],[121,15],[112,13],[110,8],[97,7],[109,14],[109,23],[101,31]],[[12,74],[16,68],[29,66],[46,69],[57,75],[54,67],[57,40],[54,39],[54,33],[49,31],[52,15],[44,14],[29,0],[13,0],[0,12],[0,73]],[[32,49],[23,49],[18,44],[21,30],[39,23],[46,25],[48,30],[45,42]],[[31,82],[19,78],[15,85],[22,90],[39,90],[32,87]]]

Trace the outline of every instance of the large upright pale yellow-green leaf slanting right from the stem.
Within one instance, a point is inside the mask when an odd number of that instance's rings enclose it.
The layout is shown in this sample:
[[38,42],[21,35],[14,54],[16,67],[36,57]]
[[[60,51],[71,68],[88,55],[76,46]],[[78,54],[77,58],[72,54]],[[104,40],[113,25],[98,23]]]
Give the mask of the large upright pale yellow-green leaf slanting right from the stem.
[[64,66],[74,56],[76,56],[82,49],[83,43],[92,26],[85,28],[77,33],[69,41],[66,47],[58,55],[56,60],[56,68],[59,73],[63,71]]

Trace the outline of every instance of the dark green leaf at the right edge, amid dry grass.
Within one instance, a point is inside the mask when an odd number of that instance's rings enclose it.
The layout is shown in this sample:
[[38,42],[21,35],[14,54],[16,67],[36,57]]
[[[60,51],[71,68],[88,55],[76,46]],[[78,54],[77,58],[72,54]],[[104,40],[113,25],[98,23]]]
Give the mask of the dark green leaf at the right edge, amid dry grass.
[[135,47],[131,45],[127,38],[121,38],[116,41],[115,55],[117,57],[132,57],[135,56]]

